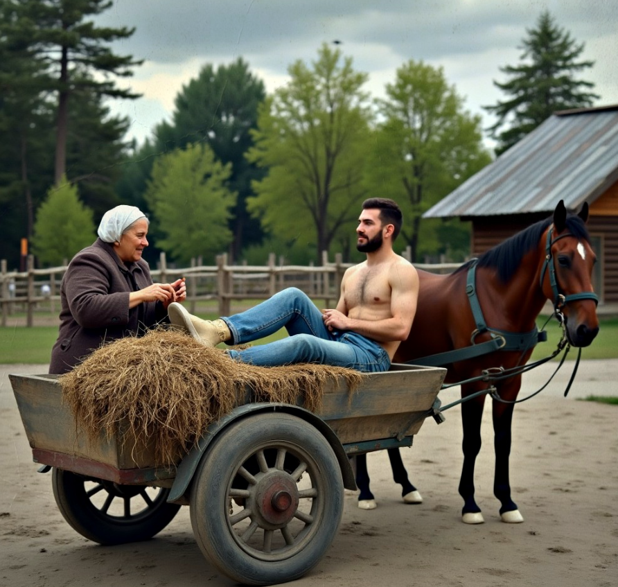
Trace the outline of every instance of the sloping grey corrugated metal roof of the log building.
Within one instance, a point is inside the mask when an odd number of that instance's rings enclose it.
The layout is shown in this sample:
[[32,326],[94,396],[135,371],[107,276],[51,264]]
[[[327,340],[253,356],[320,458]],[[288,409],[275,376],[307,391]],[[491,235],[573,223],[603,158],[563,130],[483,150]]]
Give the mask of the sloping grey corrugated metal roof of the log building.
[[618,105],[556,112],[423,214],[551,212],[592,204],[618,179]]

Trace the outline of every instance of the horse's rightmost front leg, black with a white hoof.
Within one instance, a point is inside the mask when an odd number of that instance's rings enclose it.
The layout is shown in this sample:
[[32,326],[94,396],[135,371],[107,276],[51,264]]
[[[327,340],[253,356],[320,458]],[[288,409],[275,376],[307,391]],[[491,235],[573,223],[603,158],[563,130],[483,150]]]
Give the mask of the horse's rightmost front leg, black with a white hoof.
[[[509,397],[516,397],[509,394]],[[517,505],[511,499],[511,484],[509,482],[509,457],[511,455],[511,423],[513,421],[514,405],[493,401],[493,432],[495,449],[495,475],[493,493],[500,500],[500,517],[503,522],[520,523],[524,521]]]

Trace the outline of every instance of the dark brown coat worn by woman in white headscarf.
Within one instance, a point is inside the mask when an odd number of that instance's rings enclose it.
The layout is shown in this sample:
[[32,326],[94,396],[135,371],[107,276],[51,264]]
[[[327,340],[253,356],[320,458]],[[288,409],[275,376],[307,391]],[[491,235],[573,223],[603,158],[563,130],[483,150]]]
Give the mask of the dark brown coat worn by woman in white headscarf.
[[109,342],[143,334],[157,322],[168,322],[161,302],[129,309],[129,294],[152,284],[146,261],[123,263],[114,247],[97,238],[73,257],[60,286],[60,331],[51,351],[49,372],[70,371]]

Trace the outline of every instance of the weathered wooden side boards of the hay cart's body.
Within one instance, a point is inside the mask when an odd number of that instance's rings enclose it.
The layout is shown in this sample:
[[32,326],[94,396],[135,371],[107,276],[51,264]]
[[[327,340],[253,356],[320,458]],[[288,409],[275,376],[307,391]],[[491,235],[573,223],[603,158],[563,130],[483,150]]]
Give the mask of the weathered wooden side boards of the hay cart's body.
[[[326,387],[319,416],[343,444],[414,435],[432,407],[444,374],[445,369],[433,367],[394,366],[393,371],[368,375],[352,394],[343,380],[333,380]],[[69,406],[62,403],[58,376],[9,377],[28,442],[39,459],[58,453],[68,455],[67,462],[90,459],[101,464],[103,471],[107,466],[118,471],[157,466],[153,443],[136,443],[130,436],[123,441],[123,423],[111,439],[101,433],[89,442]],[[298,404],[302,403],[299,398]],[[54,458],[62,459],[58,454]]]

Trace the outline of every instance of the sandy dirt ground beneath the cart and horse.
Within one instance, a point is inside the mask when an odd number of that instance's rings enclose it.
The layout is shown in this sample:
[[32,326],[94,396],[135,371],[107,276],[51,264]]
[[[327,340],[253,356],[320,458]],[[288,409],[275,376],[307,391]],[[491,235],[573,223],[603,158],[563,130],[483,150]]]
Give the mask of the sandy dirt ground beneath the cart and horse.
[[[421,505],[405,505],[385,453],[369,455],[379,505],[346,496],[341,528],[303,586],[618,585],[618,407],[576,401],[618,395],[618,360],[583,362],[569,398],[570,366],[542,394],[515,408],[511,486],[525,521],[502,523],[492,494],[491,410],[477,460],[477,501],[485,523],[461,523],[459,408],[445,423],[425,422],[403,450]],[[55,505],[51,475],[38,474],[8,381],[9,373],[44,373],[46,365],[0,365],[0,585],[229,586],[202,556],[188,507],[151,541],[116,547],[91,543]],[[524,380],[521,396],[547,380],[544,366]],[[457,389],[441,394],[443,404]]]

